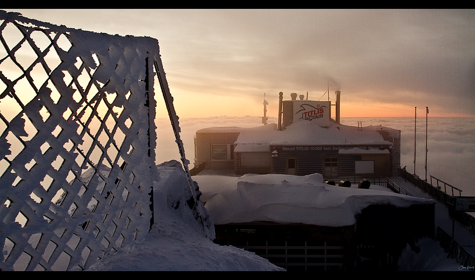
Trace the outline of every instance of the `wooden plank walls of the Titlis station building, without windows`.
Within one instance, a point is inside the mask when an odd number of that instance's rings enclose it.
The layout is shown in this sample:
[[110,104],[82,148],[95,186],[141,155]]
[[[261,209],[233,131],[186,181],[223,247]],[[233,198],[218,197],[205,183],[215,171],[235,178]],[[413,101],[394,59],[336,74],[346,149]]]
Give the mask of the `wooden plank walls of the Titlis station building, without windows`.
[[[297,165],[296,175],[324,174],[325,158],[337,157],[338,176],[385,177],[397,175],[401,163],[401,139],[400,137],[392,138],[387,130],[378,132],[383,136],[384,140],[393,143],[393,148],[389,154],[338,154],[337,151],[329,151],[328,153],[325,151],[279,151],[277,157],[271,157],[271,154],[269,154],[270,166],[262,164],[251,166],[241,163],[240,153],[234,153],[234,143],[237,141],[239,132],[197,133],[195,139],[195,166],[205,162],[205,169],[234,170],[235,174],[286,174],[287,158],[294,157]],[[214,159],[213,145],[226,145],[227,158]],[[326,146],[331,147],[331,145]],[[272,151],[273,147],[271,146]],[[374,161],[374,173],[355,174],[355,162],[357,161]]]

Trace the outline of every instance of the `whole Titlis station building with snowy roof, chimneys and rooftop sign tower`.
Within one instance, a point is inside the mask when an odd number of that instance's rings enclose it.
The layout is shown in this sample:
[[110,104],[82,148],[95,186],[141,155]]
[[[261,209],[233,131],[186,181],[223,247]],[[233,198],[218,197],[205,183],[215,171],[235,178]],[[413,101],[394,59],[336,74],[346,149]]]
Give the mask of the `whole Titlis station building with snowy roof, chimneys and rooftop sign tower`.
[[[282,101],[278,124],[212,127],[195,135],[195,168],[234,170],[236,175],[319,173],[324,178],[389,177],[401,165],[401,130],[340,124],[330,101]],[[264,101],[265,104],[265,101]],[[281,117],[281,118],[280,118]],[[265,118],[265,116],[264,116]]]

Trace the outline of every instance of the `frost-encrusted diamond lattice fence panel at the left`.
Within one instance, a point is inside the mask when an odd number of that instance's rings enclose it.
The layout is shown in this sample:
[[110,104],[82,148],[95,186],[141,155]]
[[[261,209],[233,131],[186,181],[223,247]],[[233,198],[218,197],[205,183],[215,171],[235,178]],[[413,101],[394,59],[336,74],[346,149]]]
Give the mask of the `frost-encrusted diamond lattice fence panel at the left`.
[[155,39],[0,11],[0,270],[84,269],[148,232],[154,64]]

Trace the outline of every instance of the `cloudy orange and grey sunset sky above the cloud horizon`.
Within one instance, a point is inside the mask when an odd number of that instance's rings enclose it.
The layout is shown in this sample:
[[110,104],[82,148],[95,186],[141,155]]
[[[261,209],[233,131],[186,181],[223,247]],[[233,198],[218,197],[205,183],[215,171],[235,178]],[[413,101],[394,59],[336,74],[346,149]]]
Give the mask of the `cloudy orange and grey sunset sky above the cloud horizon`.
[[7,11],[157,39],[184,118],[262,116],[264,92],[277,117],[279,91],[328,86],[341,117],[475,116],[475,10]]

